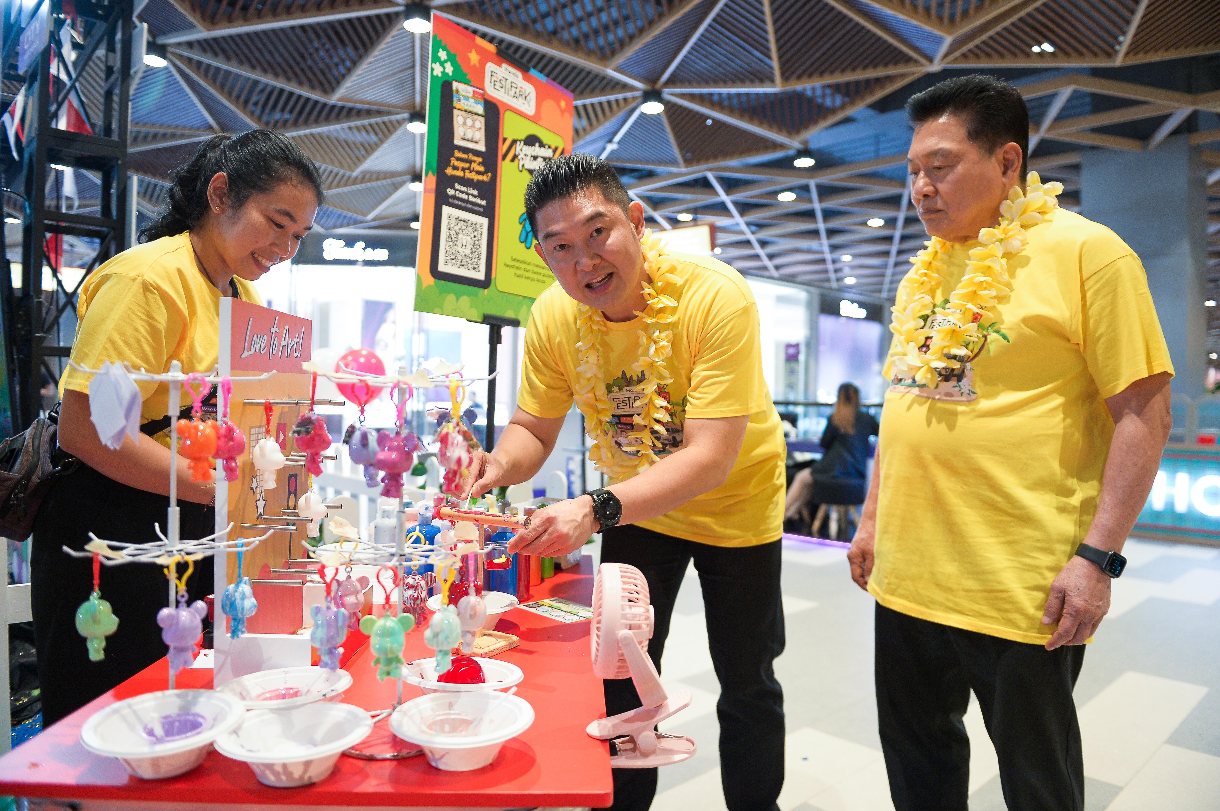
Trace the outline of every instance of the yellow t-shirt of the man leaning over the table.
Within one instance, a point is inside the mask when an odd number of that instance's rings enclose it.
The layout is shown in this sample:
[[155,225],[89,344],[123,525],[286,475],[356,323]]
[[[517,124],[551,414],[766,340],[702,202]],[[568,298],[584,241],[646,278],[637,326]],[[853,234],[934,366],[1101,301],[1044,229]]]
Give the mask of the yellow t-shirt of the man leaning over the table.
[[[682,280],[666,363],[673,382],[658,393],[669,401],[667,435],[659,455],[682,441],[688,417],[749,415],[742,450],[728,479],[716,489],[640,527],[714,546],[753,546],[778,540],[783,531],[784,443],[780,415],[762,377],[759,313],[742,274],[704,256],[673,254]],[[643,321],[606,322],[606,393],[626,435],[633,413],[631,390],[639,383],[637,335]],[[517,405],[536,417],[562,417],[572,407],[576,379],[576,301],[559,284],[529,311],[526,356]]]

